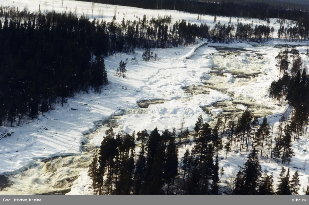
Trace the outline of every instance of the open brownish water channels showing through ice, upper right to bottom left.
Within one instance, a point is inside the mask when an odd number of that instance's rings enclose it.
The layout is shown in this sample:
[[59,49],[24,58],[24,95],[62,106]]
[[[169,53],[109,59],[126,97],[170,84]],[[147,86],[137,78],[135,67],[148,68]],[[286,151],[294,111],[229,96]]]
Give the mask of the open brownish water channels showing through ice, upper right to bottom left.
[[[216,55],[222,57],[225,55],[240,55],[243,52],[253,53],[253,55],[250,55],[250,58],[252,59],[261,58],[261,54],[256,55],[256,52],[246,49],[232,49],[218,46],[213,47],[220,51],[219,54],[214,55],[214,58],[216,58]],[[245,85],[249,82],[255,81],[256,76],[261,74],[256,70],[244,71],[232,68],[229,69],[228,72],[236,79],[235,84],[238,83],[237,85]],[[224,84],[224,81],[226,80],[226,75],[224,73],[225,71],[221,71],[219,68],[214,67],[209,73],[211,78],[204,81],[204,85],[186,86],[182,89],[191,95],[209,94],[211,90],[215,89],[234,97],[233,93],[227,91],[231,84]],[[212,78],[214,79],[212,80]],[[237,78],[239,81],[237,81]],[[164,102],[166,102],[166,100],[142,100],[137,102],[140,109],[124,109],[123,115],[137,112],[138,114],[146,114],[146,109],[144,108],[149,107],[151,104]],[[252,109],[256,116],[271,114],[272,110],[272,108],[261,106],[249,98],[234,98],[233,101],[216,102],[209,107],[201,108],[211,115],[212,110],[217,109],[222,110],[223,115],[237,117],[242,113],[243,107]],[[98,151],[98,148],[95,148],[95,145],[91,144],[89,141],[96,135],[103,135],[108,127],[119,127],[120,125],[117,122],[121,116],[111,116],[97,124],[98,129],[93,133],[86,135],[88,140],[82,147],[83,152],[81,155],[62,156],[44,161],[37,161],[35,166],[19,174],[0,176],[0,194],[66,194],[70,192],[71,186],[78,178],[80,172],[88,169],[91,159]]]

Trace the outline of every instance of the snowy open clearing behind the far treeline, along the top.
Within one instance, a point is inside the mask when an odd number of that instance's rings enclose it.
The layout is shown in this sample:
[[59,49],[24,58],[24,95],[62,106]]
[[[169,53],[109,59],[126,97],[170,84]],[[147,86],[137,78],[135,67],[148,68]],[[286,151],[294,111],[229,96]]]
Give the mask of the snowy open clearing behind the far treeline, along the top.
[[[125,20],[138,20],[139,18],[143,18],[143,15],[146,15],[147,18],[151,18],[152,16],[172,16],[173,22],[176,20],[186,19],[187,22],[190,21],[191,23],[196,24],[208,24],[211,27],[214,25],[214,16],[211,15],[201,15],[199,20],[197,20],[198,14],[191,14],[185,13],[180,11],[173,11],[173,10],[148,10],[148,9],[141,9],[135,7],[124,7],[124,6],[116,6],[116,5],[107,5],[107,4],[99,4],[95,3],[92,9],[91,2],[81,2],[81,1],[73,1],[73,0],[0,0],[0,5],[3,6],[15,6],[18,7],[19,10],[23,8],[27,8],[29,11],[57,11],[57,12],[68,12],[72,11],[76,15],[87,15],[90,20],[99,19],[99,20],[106,20],[111,21],[113,16],[116,15],[116,21],[121,22],[123,18]],[[220,21],[221,24],[228,24],[230,18],[224,16],[217,16],[218,23]],[[255,25],[266,25],[267,22],[264,20],[259,19],[247,19],[247,18],[237,18],[232,17],[231,23],[243,24],[251,24],[253,22],[253,27]],[[290,27],[296,25],[295,22],[290,20],[286,20],[284,24],[285,27]],[[270,19],[270,27],[275,28],[275,32],[273,33],[273,37],[277,37],[277,30],[280,27],[280,24],[277,22],[277,19]]]

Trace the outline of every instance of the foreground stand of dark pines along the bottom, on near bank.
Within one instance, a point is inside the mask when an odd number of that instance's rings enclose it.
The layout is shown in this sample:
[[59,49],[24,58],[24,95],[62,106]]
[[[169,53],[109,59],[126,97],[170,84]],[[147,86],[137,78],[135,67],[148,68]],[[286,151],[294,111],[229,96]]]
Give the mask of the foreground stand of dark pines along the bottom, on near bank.
[[[281,128],[284,123],[282,118]],[[290,162],[293,151],[288,128],[279,129],[281,138],[275,137],[273,151],[274,136],[267,119],[259,123],[249,110],[238,120],[219,116],[213,126],[199,116],[193,133],[183,124],[179,132],[174,128],[161,134],[157,128],[132,134],[108,129],[88,170],[94,194],[286,194],[280,183],[274,191],[273,176],[262,173],[258,157]],[[219,151],[224,149],[227,158],[228,152],[238,152],[238,148],[251,150],[247,162],[237,175],[220,181],[224,168],[219,167],[219,158],[224,157],[219,157]],[[185,153],[178,160],[180,149]],[[297,173],[291,185],[286,185],[290,194],[298,191]]]

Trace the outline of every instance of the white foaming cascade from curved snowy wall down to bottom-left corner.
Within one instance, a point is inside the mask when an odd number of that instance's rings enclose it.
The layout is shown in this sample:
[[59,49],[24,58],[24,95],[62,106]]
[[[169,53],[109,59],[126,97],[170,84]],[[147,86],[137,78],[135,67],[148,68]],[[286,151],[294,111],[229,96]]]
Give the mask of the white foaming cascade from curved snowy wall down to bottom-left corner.
[[[207,76],[207,79],[204,78],[206,79],[205,81],[210,82],[214,85],[214,87],[219,90],[226,90],[226,93],[237,93],[236,97],[234,97],[234,100],[238,99],[242,100],[243,102],[251,102],[256,105],[260,103],[267,103],[270,106],[272,105],[272,102],[265,101],[267,100],[267,98],[257,99],[255,98],[255,96],[252,96],[252,98],[250,98],[250,93],[246,93],[247,90],[245,89],[248,89],[247,86],[260,85],[260,83],[265,82],[265,79],[267,81],[272,81],[274,78],[276,78],[276,76],[271,76],[271,74],[273,73],[269,73],[269,71],[265,70],[265,68],[263,70],[262,68],[258,67],[258,65],[260,64],[264,66],[265,61],[269,62],[267,61],[267,59],[261,59],[258,56],[252,55],[237,55],[236,57],[234,55],[227,55],[223,57],[220,53],[214,52],[213,49],[204,48],[199,50],[196,55],[192,57],[192,59],[187,60],[186,64],[190,64],[190,67],[194,64],[196,66],[202,67],[204,66],[204,59],[206,59],[207,62],[210,62],[210,64],[208,63],[206,66],[217,66],[218,68],[225,70],[225,72],[227,72],[228,74],[224,76],[207,74],[209,76]],[[250,67],[250,70],[248,70],[248,67]],[[210,69],[206,70],[208,70],[208,72],[210,71]],[[229,73],[229,71],[231,72],[231,70],[241,71],[244,73],[252,73],[258,71],[265,74],[256,76],[251,79],[234,79],[232,74]],[[203,76],[205,77],[206,74],[203,74]],[[233,78],[232,81],[231,78]],[[108,126],[112,124],[116,128],[116,130],[125,129],[125,124],[127,124],[128,122],[136,121],[138,116],[142,117],[141,120],[147,119],[147,116],[152,118],[152,112],[155,107],[158,107],[157,109],[161,109],[160,112],[168,113],[168,110],[163,111],[160,107],[164,107],[164,105],[166,106],[170,103],[172,103],[172,107],[175,107],[178,102],[182,103],[188,101],[195,101],[199,103],[199,106],[205,106],[216,101],[233,100],[232,98],[228,97],[228,95],[223,94],[220,91],[213,89],[208,90],[210,94],[193,94],[185,101],[182,101],[182,99],[180,98],[178,100],[164,102],[163,104],[150,105],[149,108],[144,109],[123,109],[123,116],[115,116],[109,120],[105,120],[105,126],[99,127],[99,129],[97,129],[94,133],[90,133],[86,136],[88,139],[88,143],[83,146],[82,155],[56,157],[53,159],[49,159],[45,162],[37,161],[35,166],[33,166],[32,168],[20,172],[19,174],[9,176],[9,179],[13,184],[10,187],[5,188],[1,192],[1,194],[65,194],[69,192],[71,186],[74,185],[74,181],[80,176],[80,173],[87,172],[91,159],[97,151],[97,149],[94,147],[95,145],[99,145],[99,142],[100,140],[102,140],[102,136],[104,135],[104,131],[107,129]],[[264,92],[265,88],[260,90],[260,95],[263,95]],[[243,96],[240,95],[240,93],[242,93]],[[239,105],[238,107],[245,108],[244,106]],[[273,108],[274,110],[278,109],[278,107],[274,106]],[[261,112],[263,112],[263,110]],[[152,124],[152,126],[153,125],[156,124]]]

